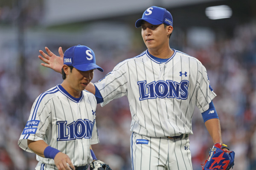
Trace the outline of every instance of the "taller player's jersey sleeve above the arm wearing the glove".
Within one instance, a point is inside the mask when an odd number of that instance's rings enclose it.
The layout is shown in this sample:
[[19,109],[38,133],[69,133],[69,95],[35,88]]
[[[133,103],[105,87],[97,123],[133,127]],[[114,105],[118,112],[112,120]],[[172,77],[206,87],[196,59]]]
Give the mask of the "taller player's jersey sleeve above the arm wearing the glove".
[[198,68],[198,88],[196,91],[196,105],[203,113],[209,109],[209,103],[214,99],[216,94],[213,92],[212,87],[210,86],[210,81],[207,76],[207,71],[204,65],[199,64]]

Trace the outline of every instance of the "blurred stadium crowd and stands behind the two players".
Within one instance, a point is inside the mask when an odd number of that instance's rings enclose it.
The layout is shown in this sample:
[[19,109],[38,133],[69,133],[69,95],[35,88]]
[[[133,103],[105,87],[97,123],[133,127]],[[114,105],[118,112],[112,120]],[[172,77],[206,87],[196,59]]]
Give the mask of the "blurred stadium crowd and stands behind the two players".
[[[255,0],[1,0],[0,170],[33,170],[37,164],[17,140],[36,97],[62,82],[60,74],[40,65],[38,51],[89,46],[104,69],[95,71],[97,82],[120,61],[145,51],[135,21],[150,6],[171,12],[171,48],[207,68],[223,142],[236,152],[234,170],[256,170]],[[96,113],[97,158],[113,170],[131,170],[128,100],[98,105]],[[213,143],[198,109],[193,132],[193,168],[201,170]]]

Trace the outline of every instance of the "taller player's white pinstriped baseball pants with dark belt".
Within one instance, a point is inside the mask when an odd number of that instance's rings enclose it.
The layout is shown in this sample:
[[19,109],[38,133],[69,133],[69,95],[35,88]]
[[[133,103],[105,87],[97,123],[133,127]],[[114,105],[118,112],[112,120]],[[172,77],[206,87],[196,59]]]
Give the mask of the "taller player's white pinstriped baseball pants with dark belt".
[[132,170],[192,170],[189,138],[131,134]]

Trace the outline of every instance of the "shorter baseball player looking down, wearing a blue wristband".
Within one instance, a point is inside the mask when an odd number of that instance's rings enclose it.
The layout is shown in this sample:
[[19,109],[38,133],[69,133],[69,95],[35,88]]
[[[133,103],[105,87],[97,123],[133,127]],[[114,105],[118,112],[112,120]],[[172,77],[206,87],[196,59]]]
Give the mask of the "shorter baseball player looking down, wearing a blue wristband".
[[[93,79],[94,69],[103,71],[90,48],[68,48],[64,53],[63,82],[35,100],[18,145],[37,154],[36,170],[87,170],[88,164],[95,169],[99,160],[91,144],[99,142],[97,103],[95,96],[84,90]],[[93,160],[97,161],[92,164]]]

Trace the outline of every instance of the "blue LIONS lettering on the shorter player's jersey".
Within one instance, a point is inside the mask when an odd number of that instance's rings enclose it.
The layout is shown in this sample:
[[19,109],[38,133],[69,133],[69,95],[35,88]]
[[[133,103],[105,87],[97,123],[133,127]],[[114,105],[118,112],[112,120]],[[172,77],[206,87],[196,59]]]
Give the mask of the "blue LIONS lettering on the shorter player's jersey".
[[82,138],[91,138],[95,119],[91,122],[88,119],[78,119],[67,125],[67,121],[59,121],[57,141],[68,141]]

